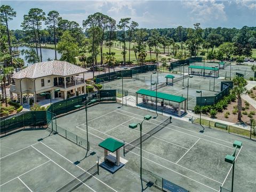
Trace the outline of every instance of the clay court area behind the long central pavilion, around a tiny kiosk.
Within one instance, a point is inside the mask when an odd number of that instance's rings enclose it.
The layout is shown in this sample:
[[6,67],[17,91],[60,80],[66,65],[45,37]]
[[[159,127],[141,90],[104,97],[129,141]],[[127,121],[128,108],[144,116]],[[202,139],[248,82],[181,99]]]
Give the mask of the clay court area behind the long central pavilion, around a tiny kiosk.
[[[156,90],[156,85],[150,84],[151,75],[151,82],[157,82],[157,73],[153,74],[152,72],[138,74],[138,76],[133,75],[133,78],[123,79],[124,95],[127,95],[125,99],[127,99],[128,102],[135,103],[135,92],[140,89]],[[221,82],[224,81],[222,78],[213,79],[211,77],[201,76],[188,77],[188,75],[185,75],[183,81],[183,74],[172,74],[175,76],[174,84],[172,86],[165,86],[166,75],[170,75],[170,73],[158,73],[157,91],[187,98],[188,109],[191,110],[193,110],[196,106],[196,97],[200,96],[198,93],[196,93],[196,91],[202,90],[203,96],[213,96],[214,94],[220,92]],[[189,86],[189,92],[187,90],[187,86]],[[122,97],[122,79],[104,83],[104,89],[116,89],[120,95],[119,97]],[[124,103],[127,101],[124,101]]]

